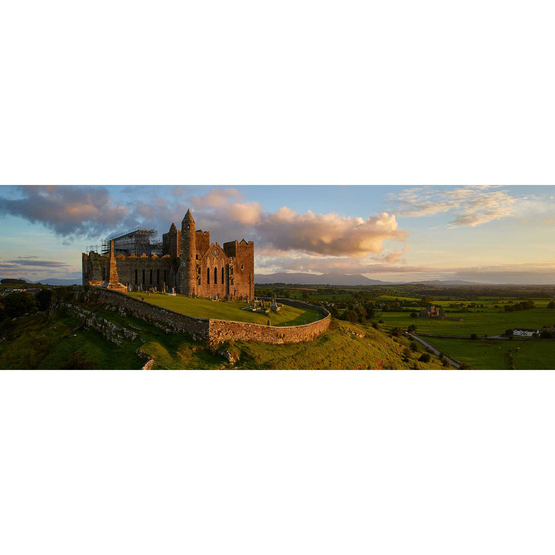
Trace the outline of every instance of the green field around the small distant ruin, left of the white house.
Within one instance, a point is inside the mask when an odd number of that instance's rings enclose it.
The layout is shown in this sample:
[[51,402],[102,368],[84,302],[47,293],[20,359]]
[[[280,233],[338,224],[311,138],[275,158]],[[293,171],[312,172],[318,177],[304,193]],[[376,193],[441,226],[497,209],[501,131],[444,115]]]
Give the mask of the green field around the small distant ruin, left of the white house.
[[[415,324],[417,332],[438,335],[478,336],[502,334],[509,327],[528,327],[541,329],[544,325],[555,323],[555,310],[536,308],[520,312],[499,312],[498,309],[470,309],[470,312],[447,312],[446,316],[463,318],[462,322],[452,320],[435,320],[411,318],[410,312],[376,312],[377,319],[384,324],[406,329]],[[476,312],[485,310],[485,312]],[[416,311],[418,312],[418,311]]]

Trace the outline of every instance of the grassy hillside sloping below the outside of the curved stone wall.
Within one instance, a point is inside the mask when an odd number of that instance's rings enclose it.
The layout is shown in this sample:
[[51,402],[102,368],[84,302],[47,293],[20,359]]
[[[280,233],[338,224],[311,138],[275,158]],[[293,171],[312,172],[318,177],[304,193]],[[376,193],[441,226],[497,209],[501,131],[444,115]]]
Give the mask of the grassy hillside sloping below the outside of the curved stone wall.
[[[87,307],[90,309],[90,307]],[[100,307],[95,314],[142,337],[114,345],[94,330],[84,331],[77,318],[29,316],[8,322],[0,332],[0,369],[140,369],[146,356],[154,369],[442,369],[435,356],[420,362],[420,351],[410,351],[405,337],[388,337],[370,326],[333,321],[315,341],[294,345],[232,342],[218,351],[239,355],[231,365],[218,352],[182,334],[165,334],[143,320],[122,317]],[[78,328],[78,329],[75,329]],[[137,355],[138,351],[144,357]],[[73,366],[72,366],[73,364]],[[76,365],[77,364],[77,365]]]

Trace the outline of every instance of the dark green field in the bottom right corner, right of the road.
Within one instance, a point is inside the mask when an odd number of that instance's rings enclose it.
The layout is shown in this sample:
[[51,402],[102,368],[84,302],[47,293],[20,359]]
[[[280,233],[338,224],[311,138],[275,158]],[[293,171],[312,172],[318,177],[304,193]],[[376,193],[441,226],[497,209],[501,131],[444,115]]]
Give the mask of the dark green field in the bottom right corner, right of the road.
[[[508,351],[512,351],[517,370],[555,370],[555,341],[478,341],[424,337],[431,345],[476,370],[508,370]],[[518,351],[514,351],[517,349]]]

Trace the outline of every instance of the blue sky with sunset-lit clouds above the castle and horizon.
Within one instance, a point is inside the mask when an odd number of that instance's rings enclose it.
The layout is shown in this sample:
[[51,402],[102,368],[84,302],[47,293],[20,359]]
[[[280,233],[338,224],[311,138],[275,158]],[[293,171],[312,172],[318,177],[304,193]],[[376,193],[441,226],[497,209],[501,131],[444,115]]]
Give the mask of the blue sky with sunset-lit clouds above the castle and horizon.
[[255,273],[555,283],[555,186],[2,186],[0,278],[73,279],[81,253],[187,209],[211,241],[255,241]]

